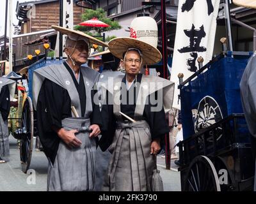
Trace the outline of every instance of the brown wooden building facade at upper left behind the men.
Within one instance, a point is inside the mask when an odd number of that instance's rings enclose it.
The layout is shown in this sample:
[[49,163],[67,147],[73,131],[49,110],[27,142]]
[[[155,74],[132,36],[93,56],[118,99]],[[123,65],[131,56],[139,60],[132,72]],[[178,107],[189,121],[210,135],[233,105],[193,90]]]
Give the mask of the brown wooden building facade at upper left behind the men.
[[[92,6],[83,4],[87,8]],[[77,6],[73,1],[73,9],[74,25],[77,25],[81,22],[81,15],[84,13],[85,8]],[[13,53],[15,53],[16,65],[13,70],[19,71],[24,66],[28,66],[29,62],[26,59],[28,55],[33,55],[34,61],[32,62],[35,62],[35,50],[40,50],[41,57],[43,57],[45,52],[44,43],[50,43],[51,49],[55,48],[57,32],[52,31],[51,25],[59,25],[60,1],[41,0],[18,3],[16,13],[19,19],[20,36],[17,35],[13,38],[13,44],[15,44]]]

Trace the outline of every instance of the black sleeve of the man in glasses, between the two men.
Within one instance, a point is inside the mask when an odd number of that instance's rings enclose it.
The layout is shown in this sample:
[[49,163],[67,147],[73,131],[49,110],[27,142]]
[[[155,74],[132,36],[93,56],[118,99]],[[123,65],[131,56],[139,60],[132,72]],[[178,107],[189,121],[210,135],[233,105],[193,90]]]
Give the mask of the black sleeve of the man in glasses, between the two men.
[[101,117],[102,117],[102,131],[101,138],[99,140],[99,147],[102,151],[108,149],[113,142],[113,138],[116,130],[116,119],[113,114],[113,103],[109,101],[112,97],[109,96],[109,92],[106,92],[106,98],[102,105]]

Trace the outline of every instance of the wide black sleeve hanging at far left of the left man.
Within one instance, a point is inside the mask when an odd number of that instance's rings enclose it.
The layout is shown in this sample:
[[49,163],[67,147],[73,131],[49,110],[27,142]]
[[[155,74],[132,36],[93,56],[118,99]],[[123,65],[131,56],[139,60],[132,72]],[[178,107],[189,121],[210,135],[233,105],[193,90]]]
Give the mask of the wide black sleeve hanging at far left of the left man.
[[36,105],[36,121],[40,142],[47,157],[54,163],[60,137],[52,129],[62,128],[61,120],[71,117],[71,101],[66,89],[48,79],[42,84]]

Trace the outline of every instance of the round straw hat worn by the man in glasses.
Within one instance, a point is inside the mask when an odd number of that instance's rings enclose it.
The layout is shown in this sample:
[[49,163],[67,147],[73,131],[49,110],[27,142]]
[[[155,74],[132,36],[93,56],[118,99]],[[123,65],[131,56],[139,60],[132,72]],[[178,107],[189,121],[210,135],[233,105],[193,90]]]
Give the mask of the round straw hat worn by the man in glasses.
[[113,40],[109,41],[108,46],[110,52],[119,59],[123,58],[123,54],[128,48],[138,48],[141,50],[143,64],[156,64],[162,59],[161,52],[159,52],[157,48],[135,38],[114,38]]

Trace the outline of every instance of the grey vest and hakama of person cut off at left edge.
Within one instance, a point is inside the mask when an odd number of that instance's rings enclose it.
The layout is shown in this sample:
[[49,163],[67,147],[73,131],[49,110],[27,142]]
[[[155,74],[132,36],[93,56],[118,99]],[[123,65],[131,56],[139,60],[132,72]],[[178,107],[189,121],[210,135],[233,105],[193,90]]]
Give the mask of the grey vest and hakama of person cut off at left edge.
[[[0,93],[4,85],[8,85],[10,91],[10,97],[6,98],[6,103],[10,103],[15,92],[15,81],[8,78],[0,78]],[[4,161],[9,161],[10,157],[10,145],[9,145],[9,134],[8,134],[8,120],[3,120],[0,112],[0,157]]]

